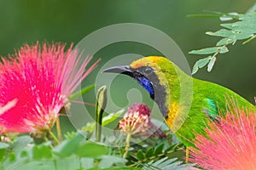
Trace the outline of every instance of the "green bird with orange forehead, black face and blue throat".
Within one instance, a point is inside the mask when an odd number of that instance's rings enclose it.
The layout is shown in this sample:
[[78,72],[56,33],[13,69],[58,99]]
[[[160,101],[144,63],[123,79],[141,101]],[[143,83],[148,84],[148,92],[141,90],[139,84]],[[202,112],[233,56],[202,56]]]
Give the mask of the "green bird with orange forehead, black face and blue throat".
[[239,94],[190,77],[165,57],[148,56],[131,65],[111,67],[104,72],[128,75],[146,88],[168,127],[187,147],[195,147],[195,135],[205,134],[207,122],[218,122],[219,117],[224,116],[220,113],[226,113],[232,101],[241,108],[254,109],[254,105]]

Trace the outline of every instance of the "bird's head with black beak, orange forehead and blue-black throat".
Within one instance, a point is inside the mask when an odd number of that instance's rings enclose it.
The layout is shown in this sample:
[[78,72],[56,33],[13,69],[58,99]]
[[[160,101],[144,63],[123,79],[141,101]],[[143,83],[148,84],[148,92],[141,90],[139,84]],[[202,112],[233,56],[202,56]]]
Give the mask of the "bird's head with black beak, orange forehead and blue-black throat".
[[167,118],[171,100],[170,87],[177,77],[175,65],[169,59],[148,56],[131,62],[131,65],[114,66],[103,72],[120,73],[137,80],[159,105],[162,115]]

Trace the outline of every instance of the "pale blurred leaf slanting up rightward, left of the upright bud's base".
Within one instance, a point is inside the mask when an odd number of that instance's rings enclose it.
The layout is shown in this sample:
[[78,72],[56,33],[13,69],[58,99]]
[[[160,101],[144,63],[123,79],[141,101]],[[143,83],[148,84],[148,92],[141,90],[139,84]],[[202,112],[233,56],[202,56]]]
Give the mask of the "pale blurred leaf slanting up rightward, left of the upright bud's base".
[[57,145],[53,151],[56,155],[65,157],[71,156],[79,148],[79,144],[84,140],[84,136],[78,133],[73,139],[67,139]]

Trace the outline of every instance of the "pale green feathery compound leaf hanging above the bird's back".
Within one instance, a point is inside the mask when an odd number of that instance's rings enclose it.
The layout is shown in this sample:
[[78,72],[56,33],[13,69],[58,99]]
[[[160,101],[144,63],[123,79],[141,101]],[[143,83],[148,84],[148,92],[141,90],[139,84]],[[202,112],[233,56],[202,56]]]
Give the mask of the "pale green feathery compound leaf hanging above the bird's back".
[[[245,40],[242,44],[246,44],[247,42],[252,41],[256,36],[256,3],[254,3],[253,7],[248,9],[246,14],[237,14],[237,13],[229,13],[229,14],[220,14],[220,20],[238,20],[236,22],[229,22],[221,24],[220,26],[224,27],[218,31],[212,32],[207,31],[206,34],[215,37],[223,37],[220,41],[217,42],[214,48],[205,48],[201,50],[192,50],[189,54],[211,54],[216,52],[208,62],[207,71],[212,71],[212,67],[216,62],[217,54],[225,54],[229,52],[229,49],[226,47],[229,44],[234,45],[237,40]],[[218,49],[217,49],[218,48]],[[202,62],[202,63],[201,63]],[[204,61],[199,61],[193,66],[192,74],[195,74],[200,68],[201,65],[205,65]]]

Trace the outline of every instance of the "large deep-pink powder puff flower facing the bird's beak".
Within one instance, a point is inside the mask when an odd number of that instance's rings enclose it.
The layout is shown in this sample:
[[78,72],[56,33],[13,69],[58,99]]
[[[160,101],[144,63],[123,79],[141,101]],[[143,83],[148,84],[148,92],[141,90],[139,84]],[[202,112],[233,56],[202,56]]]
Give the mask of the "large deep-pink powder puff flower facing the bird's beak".
[[[25,45],[0,63],[0,133],[44,132],[55,124],[68,96],[96,67],[84,71],[92,57],[82,58],[73,45]],[[4,106],[3,106],[4,108]]]

